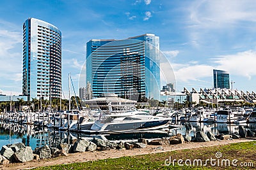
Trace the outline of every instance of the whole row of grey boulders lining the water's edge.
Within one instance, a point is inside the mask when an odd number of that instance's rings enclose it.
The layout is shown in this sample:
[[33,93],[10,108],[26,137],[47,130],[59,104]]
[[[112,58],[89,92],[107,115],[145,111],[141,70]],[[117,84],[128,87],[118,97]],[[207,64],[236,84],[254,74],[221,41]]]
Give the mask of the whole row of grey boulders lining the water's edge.
[[171,146],[182,143],[204,143],[209,141],[223,141],[233,140],[245,137],[256,137],[255,131],[246,131],[244,127],[239,126],[239,132],[230,135],[214,135],[212,132],[196,132],[195,136],[182,136],[177,134],[170,138],[162,139],[138,139],[138,141],[122,142],[119,143],[104,141],[102,139],[94,138],[92,141],[78,139],[73,141],[72,145],[63,143],[58,145],[56,148],[49,147],[47,145],[41,148],[35,148],[33,151],[30,146],[25,146],[23,143],[16,143],[13,145],[5,145],[0,151],[0,162],[1,164],[16,164],[29,162],[31,160],[40,161],[47,160],[54,157],[64,156],[67,157],[72,153],[82,152],[95,152],[95,151],[108,151],[108,150],[132,150],[134,148],[147,148],[150,145],[157,146],[156,150],[163,150],[163,146]]

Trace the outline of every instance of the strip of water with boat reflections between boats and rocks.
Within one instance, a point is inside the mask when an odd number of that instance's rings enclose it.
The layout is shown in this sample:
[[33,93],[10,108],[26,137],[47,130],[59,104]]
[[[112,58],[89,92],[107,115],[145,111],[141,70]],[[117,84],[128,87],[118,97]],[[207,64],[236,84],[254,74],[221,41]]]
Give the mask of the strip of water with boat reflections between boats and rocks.
[[[56,147],[60,143],[76,141],[76,139],[108,139],[110,141],[135,140],[138,138],[165,138],[174,134],[189,134],[195,136],[196,131],[211,131],[214,134],[230,134],[238,132],[239,125],[236,124],[204,124],[196,122],[181,123],[184,127],[171,129],[170,131],[149,131],[146,133],[125,133],[125,134],[77,134],[74,132],[53,131],[52,129],[35,127],[33,125],[20,125],[15,123],[0,122],[0,147],[7,144],[22,142],[32,149],[49,145]],[[246,129],[255,130],[256,124],[243,124]]]

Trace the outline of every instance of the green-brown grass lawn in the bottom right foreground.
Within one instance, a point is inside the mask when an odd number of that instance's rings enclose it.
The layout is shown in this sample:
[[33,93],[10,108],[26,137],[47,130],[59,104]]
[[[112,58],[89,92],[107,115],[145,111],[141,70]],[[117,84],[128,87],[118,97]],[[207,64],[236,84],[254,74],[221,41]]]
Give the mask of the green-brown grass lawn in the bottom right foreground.
[[[133,157],[121,157],[118,159],[104,159],[83,163],[40,167],[36,169],[256,169],[256,145],[253,145],[254,143],[256,142],[233,143],[230,145],[152,153]],[[221,155],[222,157],[220,157]],[[164,161],[166,159],[170,160],[170,157],[172,158],[171,165],[166,166]],[[174,159],[175,163],[173,166]],[[183,160],[183,162],[181,162],[183,166],[178,165],[177,160],[179,159]],[[197,164],[200,165],[200,160],[202,160],[203,165],[206,162],[207,166],[197,166]],[[228,166],[228,160],[230,161],[230,166]],[[190,161],[191,166],[186,166],[186,164],[190,164]],[[193,166],[194,161],[195,166]],[[170,161],[166,161],[166,163],[170,163]],[[214,163],[216,165],[211,166],[214,165]]]

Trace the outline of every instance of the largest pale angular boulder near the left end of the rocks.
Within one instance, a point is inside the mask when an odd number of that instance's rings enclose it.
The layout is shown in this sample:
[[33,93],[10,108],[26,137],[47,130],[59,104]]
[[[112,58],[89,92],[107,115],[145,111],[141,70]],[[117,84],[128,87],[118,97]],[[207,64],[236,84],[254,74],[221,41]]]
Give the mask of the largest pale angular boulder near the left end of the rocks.
[[23,148],[13,154],[13,159],[15,162],[28,162],[33,160],[33,150],[30,146],[26,146],[26,148]]

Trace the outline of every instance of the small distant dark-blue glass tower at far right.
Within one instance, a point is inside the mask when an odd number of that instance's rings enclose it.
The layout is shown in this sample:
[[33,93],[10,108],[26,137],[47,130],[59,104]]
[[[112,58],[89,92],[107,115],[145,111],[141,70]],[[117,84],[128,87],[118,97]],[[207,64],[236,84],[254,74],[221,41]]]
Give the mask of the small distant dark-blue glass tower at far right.
[[213,70],[214,88],[230,89],[229,73],[227,71]]

